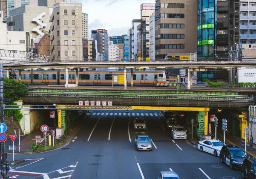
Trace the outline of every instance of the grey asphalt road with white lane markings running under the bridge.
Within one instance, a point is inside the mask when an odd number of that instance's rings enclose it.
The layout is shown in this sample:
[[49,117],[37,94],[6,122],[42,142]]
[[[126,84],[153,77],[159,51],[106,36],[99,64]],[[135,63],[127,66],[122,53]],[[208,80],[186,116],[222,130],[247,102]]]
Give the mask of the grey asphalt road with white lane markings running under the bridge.
[[[101,111],[101,114],[107,112]],[[75,141],[62,149],[16,155],[15,159],[32,160],[12,166],[10,176],[17,179],[157,179],[160,171],[173,170],[181,179],[242,178],[240,170],[230,170],[219,162],[219,157],[200,152],[187,140],[173,140],[158,116],[144,114],[147,130],[143,130],[133,128],[136,116],[101,114],[84,119]],[[134,139],[138,134],[150,136],[155,144],[152,151],[136,151]]]

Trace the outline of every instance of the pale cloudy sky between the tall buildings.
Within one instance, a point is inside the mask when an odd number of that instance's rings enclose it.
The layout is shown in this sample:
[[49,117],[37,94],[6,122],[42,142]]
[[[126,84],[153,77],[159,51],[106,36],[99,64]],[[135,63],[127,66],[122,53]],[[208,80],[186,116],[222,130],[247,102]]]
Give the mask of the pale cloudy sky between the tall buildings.
[[[155,0],[77,0],[83,12],[89,14],[89,38],[91,31],[106,29],[109,36],[127,34],[133,19],[141,19],[142,3]],[[69,2],[69,0],[67,0]]]

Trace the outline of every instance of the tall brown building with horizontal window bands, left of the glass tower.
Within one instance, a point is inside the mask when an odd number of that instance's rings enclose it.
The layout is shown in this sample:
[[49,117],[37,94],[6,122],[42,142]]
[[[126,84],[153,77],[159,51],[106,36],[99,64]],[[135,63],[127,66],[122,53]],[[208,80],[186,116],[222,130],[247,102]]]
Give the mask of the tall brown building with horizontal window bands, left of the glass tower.
[[[158,0],[155,3],[155,59],[178,60],[196,52],[196,1]],[[181,59],[182,60],[182,59]]]

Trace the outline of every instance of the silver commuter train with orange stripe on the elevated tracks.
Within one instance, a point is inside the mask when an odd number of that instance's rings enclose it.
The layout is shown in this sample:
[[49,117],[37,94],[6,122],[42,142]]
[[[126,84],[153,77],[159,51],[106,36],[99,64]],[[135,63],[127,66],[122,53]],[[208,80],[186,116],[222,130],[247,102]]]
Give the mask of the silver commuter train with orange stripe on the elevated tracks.
[[[7,77],[6,71],[3,73]],[[19,77],[20,75],[20,77]],[[25,70],[10,71],[9,76],[25,81],[29,85],[65,85],[65,70]],[[31,80],[33,76],[33,80]],[[114,79],[113,79],[114,76]],[[133,71],[134,86],[155,86],[155,83],[168,83],[167,72],[163,70]],[[156,80],[158,79],[158,80]],[[161,80],[163,79],[163,80]],[[78,71],[78,85],[124,85],[124,70],[88,70]],[[76,71],[68,71],[68,83],[76,83]],[[131,71],[127,70],[127,85],[131,85]]]

